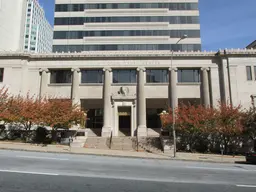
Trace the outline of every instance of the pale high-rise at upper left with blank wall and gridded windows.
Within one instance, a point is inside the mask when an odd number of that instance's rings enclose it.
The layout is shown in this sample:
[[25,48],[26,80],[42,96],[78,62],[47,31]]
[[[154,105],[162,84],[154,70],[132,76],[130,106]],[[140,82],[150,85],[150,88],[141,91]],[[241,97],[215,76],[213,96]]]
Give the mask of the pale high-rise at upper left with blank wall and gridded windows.
[[51,52],[52,41],[38,0],[0,0],[0,51]]

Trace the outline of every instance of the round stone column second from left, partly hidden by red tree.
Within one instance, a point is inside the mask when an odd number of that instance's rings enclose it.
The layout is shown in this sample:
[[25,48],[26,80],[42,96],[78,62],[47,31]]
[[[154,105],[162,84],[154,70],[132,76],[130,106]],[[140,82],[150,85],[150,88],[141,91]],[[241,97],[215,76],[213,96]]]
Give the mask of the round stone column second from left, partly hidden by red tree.
[[80,106],[80,97],[79,97],[79,73],[80,69],[72,68],[71,71],[73,72],[72,75],[72,87],[71,87],[71,99],[72,105]]

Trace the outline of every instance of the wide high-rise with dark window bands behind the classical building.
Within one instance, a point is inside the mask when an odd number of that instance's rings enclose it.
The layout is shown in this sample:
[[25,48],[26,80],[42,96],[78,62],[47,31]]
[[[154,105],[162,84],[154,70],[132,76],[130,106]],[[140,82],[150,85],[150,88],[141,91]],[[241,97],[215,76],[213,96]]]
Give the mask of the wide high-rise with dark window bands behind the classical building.
[[53,51],[105,50],[201,50],[198,0],[55,0]]

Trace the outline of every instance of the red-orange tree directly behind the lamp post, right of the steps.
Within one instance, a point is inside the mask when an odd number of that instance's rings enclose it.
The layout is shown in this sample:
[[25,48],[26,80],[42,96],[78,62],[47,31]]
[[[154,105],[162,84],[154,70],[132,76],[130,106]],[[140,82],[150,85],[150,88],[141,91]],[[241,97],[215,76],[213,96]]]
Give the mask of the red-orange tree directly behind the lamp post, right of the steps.
[[[209,133],[216,126],[217,111],[214,108],[205,108],[202,105],[179,105],[175,109],[175,128],[177,135],[181,138],[181,147],[189,147],[189,150],[207,150],[207,139]],[[161,114],[163,127],[172,127],[172,110]]]

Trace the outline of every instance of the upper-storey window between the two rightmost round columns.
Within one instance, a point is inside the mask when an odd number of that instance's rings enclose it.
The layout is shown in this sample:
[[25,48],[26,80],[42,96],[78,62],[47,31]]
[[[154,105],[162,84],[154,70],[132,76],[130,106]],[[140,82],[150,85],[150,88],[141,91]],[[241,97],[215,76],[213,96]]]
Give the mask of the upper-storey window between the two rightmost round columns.
[[179,83],[200,82],[200,70],[199,69],[179,69],[178,82]]

